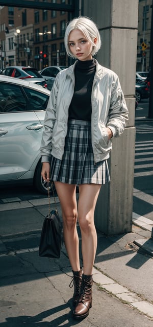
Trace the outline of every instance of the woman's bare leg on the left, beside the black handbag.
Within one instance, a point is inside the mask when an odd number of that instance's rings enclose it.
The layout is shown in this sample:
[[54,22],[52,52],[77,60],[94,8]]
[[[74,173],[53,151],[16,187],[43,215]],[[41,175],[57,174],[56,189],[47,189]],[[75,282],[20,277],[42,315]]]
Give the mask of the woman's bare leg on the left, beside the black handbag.
[[54,182],[61,203],[64,243],[73,271],[80,270],[76,185]]

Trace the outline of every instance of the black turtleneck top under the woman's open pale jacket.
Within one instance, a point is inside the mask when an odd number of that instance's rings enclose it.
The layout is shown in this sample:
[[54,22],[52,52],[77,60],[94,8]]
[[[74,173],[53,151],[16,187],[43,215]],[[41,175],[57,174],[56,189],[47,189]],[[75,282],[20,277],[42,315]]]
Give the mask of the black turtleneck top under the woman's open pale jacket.
[[69,106],[69,119],[91,121],[91,90],[96,71],[94,59],[75,65],[74,94]]

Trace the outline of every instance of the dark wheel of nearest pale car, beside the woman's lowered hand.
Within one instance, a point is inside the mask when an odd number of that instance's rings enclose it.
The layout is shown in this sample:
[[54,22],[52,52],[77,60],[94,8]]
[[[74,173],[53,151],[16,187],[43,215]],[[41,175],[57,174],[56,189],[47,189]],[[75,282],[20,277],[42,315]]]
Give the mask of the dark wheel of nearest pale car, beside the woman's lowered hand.
[[[38,165],[36,167],[36,170],[35,170],[35,174],[34,174],[34,186],[38,192],[40,192],[42,194],[47,194],[48,193],[48,190],[47,190],[48,183],[46,181],[45,182],[43,181],[43,178],[41,177],[41,169],[42,169],[42,163],[41,163],[41,161],[39,161]],[[49,190],[50,190],[50,193],[53,193],[50,182],[49,182]],[[53,183],[53,190],[56,191],[54,183]]]

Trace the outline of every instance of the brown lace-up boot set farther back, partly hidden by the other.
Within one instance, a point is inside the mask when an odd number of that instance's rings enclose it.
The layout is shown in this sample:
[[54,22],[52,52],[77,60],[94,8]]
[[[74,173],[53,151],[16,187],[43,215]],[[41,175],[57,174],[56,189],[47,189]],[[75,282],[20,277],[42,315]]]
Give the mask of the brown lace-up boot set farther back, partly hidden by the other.
[[74,294],[73,294],[73,305],[75,306],[78,302],[78,298],[81,291],[81,283],[82,283],[82,268],[79,271],[73,271],[72,281],[70,282],[69,287],[73,287],[74,285]]

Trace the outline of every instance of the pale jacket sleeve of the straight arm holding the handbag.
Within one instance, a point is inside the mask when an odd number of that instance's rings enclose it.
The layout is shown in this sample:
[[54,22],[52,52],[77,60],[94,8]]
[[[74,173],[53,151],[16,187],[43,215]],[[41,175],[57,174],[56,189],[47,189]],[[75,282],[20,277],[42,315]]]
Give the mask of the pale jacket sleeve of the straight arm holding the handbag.
[[56,77],[52,90],[50,92],[49,101],[47,104],[44,130],[42,133],[40,153],[42,162],[50,162],[50,153],[52,151],[52,133],[56,121],[56,99],[58,95],[58,76]]

